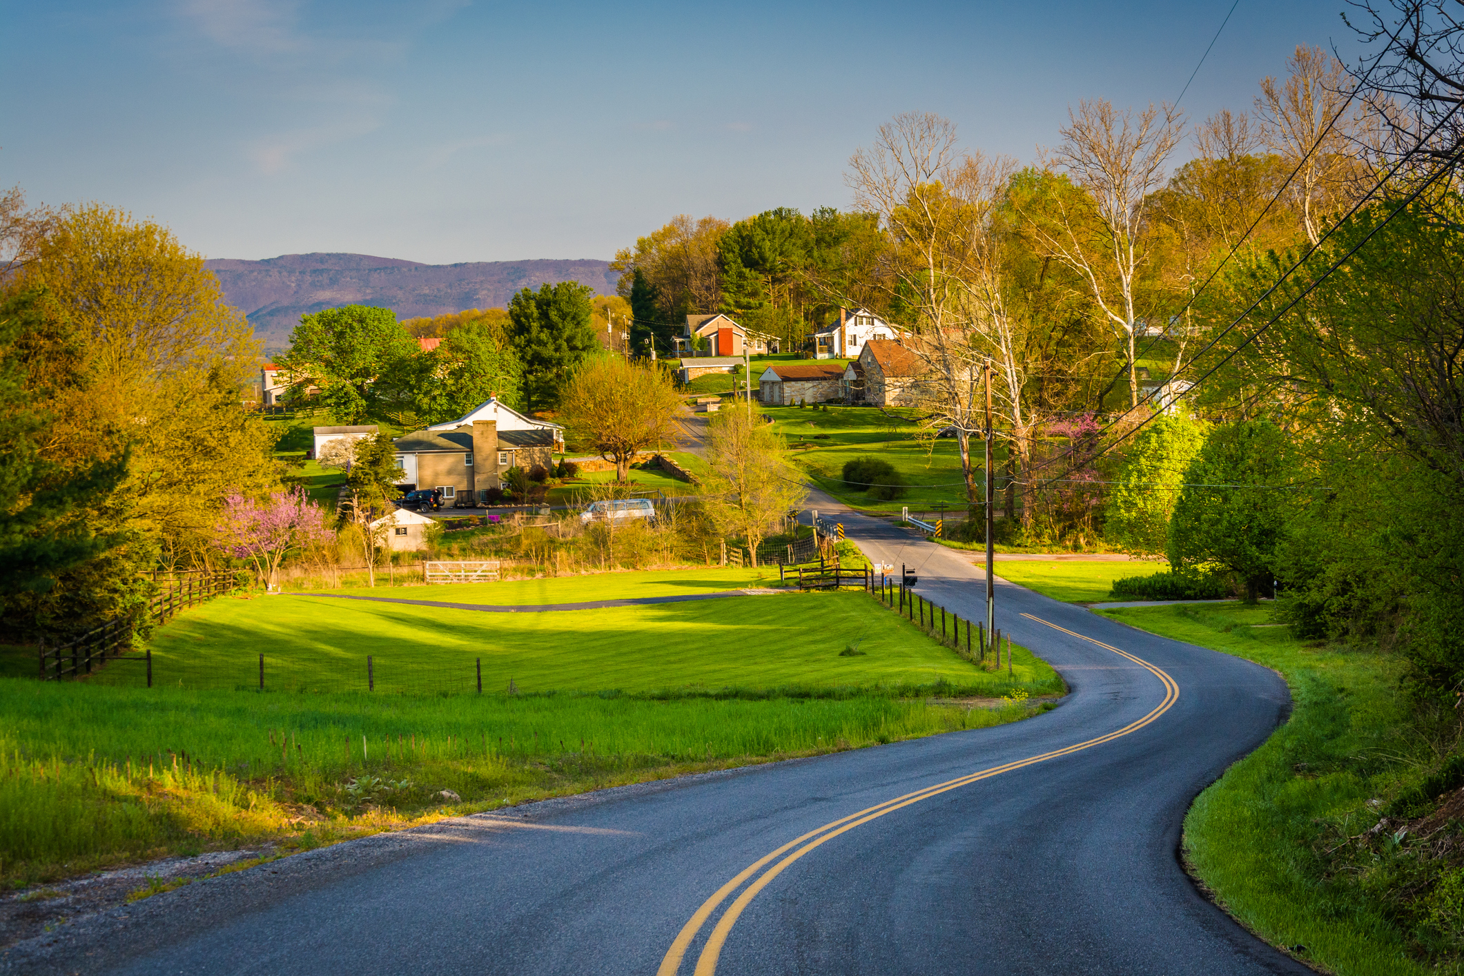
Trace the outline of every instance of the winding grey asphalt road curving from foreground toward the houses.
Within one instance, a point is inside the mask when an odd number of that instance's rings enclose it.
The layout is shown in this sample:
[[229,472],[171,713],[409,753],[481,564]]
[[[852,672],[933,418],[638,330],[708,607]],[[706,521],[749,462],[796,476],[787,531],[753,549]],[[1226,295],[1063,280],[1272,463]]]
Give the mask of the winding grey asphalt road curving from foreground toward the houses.
[[[975,553],[845,524],[979,619]],[[1195,795],[1282,720],[1281,679],[1007,584],[997,625],[1061,672],[1061,705],[297,855],[78,923],[10,969],[1310,972],[1200,897],[1177,857]]]

